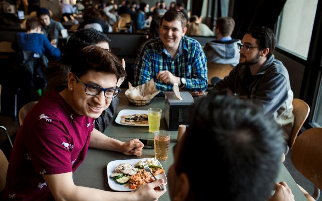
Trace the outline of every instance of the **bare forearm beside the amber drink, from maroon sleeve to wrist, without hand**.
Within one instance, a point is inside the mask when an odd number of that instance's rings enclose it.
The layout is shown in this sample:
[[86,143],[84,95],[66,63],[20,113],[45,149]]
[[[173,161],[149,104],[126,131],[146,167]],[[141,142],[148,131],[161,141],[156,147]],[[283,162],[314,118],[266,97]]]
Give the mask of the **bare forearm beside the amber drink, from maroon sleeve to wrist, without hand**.
[[93,129],[90,139],[90,147],[110,151],[122,151],[123,142],[110,138],[96,129]]

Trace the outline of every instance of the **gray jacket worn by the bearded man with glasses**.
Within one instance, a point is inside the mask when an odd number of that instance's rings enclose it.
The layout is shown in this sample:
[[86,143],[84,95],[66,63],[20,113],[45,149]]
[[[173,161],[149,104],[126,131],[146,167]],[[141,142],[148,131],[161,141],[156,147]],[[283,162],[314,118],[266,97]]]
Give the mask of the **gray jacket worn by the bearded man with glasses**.
[[273,115],[285,131],[285,140],[289,139],[294,124],[293,91],[287,69],[274,55],[253,76],[249,66],[238,64],[208,94],[225,89],[230,89],[242,98],[251,99],[264,109],[265,114]]

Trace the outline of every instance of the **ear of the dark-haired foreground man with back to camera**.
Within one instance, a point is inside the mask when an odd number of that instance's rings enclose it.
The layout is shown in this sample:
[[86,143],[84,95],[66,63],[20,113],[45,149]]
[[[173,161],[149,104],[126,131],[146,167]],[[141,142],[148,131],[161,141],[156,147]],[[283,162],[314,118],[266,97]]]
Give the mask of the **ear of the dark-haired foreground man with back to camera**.
[[173,201],[187,200],[189,195],[190,183],[186,173],[181,173],[176,182],[176,194],[173,197]]

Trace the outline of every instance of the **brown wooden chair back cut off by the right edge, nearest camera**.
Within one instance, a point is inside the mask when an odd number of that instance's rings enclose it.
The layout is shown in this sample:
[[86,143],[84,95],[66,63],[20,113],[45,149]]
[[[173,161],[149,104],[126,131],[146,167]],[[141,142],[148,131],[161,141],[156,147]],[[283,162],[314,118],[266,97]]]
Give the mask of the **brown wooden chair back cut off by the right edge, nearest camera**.
[[317,200],[320,196],[319,189],[322,188],[321,144],[322,128],[311,128],[296,138],[291,150],[291,160],[294,167],[314,184],[314,193],[312,196],[300,187],[307,197],[307,200]]

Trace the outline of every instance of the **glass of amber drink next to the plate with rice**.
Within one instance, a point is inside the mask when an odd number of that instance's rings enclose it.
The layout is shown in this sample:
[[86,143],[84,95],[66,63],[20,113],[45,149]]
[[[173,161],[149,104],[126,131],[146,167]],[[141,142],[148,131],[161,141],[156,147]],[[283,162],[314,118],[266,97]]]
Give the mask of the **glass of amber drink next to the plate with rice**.
[[156,131],[154,133],[154,153],[157,160],[167,160],[170,144],[169,131]]

